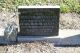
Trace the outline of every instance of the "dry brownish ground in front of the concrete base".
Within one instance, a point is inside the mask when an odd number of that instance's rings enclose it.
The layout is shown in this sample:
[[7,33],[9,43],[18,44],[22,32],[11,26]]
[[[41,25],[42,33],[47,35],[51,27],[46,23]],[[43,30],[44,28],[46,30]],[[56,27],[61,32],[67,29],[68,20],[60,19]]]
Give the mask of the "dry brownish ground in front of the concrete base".
[[52,43],[34,42],[0,46],[0,53],[80,53],[80,47],[53,46]]

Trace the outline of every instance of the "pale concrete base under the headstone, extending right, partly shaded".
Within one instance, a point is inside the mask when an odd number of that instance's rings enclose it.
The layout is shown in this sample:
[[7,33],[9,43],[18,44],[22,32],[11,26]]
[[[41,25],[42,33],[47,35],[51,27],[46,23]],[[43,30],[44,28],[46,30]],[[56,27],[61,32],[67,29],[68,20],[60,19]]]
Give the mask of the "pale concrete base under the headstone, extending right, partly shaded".
[[47,40],[54,45],[80,45],[80,30],[64,29],[59,30],[58,36],[41,37],[41,36],[18,36],[19,42],[43,41]]

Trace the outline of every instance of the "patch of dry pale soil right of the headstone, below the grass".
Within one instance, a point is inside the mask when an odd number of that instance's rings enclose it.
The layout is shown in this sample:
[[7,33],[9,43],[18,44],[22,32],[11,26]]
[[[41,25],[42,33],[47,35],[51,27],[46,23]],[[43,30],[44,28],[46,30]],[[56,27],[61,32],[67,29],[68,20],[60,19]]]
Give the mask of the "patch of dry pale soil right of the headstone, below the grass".
[[60,14],[60,29],[80,29],[80,15],[77,13]]

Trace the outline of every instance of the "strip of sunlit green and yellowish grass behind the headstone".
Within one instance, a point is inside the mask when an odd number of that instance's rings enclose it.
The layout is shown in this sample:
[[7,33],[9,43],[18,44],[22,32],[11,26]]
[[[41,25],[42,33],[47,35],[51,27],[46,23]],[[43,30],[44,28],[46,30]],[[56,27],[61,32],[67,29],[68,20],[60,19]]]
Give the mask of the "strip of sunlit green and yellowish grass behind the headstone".
[[0,0],[0,10],[16,11],[19,5],[60,5],[61,13],[80,13],[79,0]]

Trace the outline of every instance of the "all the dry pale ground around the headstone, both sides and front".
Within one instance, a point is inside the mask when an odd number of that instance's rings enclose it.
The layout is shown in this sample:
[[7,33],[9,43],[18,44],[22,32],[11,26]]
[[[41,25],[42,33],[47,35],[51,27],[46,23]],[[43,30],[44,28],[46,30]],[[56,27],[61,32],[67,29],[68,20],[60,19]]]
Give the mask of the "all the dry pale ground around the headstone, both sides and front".
[[[17,14],[0,13],[0,27],[15,22],[18,25]],[[80,29],[80,15],[76,13],[60,14],[60,29]],[[80,53],[80,46],[55,46],[49,42],[27,42],[13,45],[0,45],[0,53]]]

